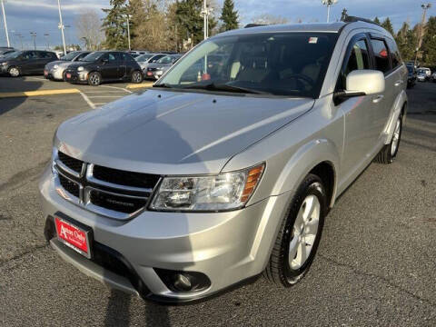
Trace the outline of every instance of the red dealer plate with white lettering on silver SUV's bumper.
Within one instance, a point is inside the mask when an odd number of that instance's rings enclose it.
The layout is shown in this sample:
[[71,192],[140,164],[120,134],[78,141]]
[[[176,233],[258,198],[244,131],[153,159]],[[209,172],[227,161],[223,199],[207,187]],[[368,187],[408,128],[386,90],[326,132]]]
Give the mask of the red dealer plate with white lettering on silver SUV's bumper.
[[74,221],[63,213],[54,214],[57,239],[84,257],[92,258],[93,229]]

